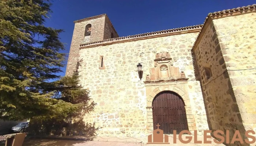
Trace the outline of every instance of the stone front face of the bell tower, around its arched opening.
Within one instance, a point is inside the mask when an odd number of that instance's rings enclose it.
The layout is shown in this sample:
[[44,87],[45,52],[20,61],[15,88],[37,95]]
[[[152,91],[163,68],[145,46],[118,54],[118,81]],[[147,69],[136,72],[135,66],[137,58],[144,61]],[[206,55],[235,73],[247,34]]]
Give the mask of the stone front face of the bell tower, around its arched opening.
[[[85,27],[91,24],[91,35],[84,37]],[[103,40],[105,16],[75,23],[73,37],[68,55],[66,75],[71,75],[76,70],[79,57],[79,45],[86,42]]]

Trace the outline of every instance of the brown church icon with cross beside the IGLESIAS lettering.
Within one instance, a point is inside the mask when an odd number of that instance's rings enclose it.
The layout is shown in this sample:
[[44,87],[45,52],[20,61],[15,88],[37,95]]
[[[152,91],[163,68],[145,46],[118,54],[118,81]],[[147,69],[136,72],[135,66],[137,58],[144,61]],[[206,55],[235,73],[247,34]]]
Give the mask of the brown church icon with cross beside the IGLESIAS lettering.
[[[157,129],[153,131],[153,134],[148,135],[147,144],[170,144],[168,135],[163,134],[163,130],[159,129],[159,123],[157,124]],[[153,142],[152,142],[153,135]],[[163,135],[165,135],[165,142],[163,142]]]

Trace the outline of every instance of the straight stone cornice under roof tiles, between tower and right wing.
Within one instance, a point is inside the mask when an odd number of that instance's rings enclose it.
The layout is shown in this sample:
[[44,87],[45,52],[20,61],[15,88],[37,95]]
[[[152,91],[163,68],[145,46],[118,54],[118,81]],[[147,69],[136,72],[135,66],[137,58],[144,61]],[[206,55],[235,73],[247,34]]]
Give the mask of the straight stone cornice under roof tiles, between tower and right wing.
[[112,45],[112,44],[115,44],[115,43],[138,41],[138,40],[143,40],[143,39],[166,37],[166,36],[170,36],[170,35],[194,33],[194,32],[199,32],[201,30],[201,28],[202,28],[202,24],[201,25],[196,25],[196,26],[174,28],[174,29],[169,29],[169,30],[147,32],[147,33],[144,33],[144,34],[129,35],[127,37],[105,39],[103,41],[89,42],[89,43],[81,44],[80,49],[90,48],[90,47],[97,47],[97,46]]

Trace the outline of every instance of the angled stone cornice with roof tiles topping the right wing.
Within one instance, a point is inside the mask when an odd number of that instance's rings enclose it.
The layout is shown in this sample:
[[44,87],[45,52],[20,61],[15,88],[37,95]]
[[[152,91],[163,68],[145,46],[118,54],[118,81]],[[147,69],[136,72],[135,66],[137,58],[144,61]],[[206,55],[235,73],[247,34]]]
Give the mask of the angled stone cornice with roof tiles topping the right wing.
[[[253,5],[248,5],[248,6],[243,6],[243,7],[238,7],[238,8],[233,8],[233,9],[225,9],[223,11],[218,11],[218,12],[213,12],[209,13],[204,20],[202,29],[200,30],[199,34],[196,37],[196,41],[192,46],[192,50],[197,47],[199,40],[203,37],[203,32],[206,30],[207,26],[210,24],[210,22],[213,19],[219,19],[219,18],[225,18],[229,16],[237,16],[237,15],[242,15],[242,14],[247,14],[251,12],[256,12],[256,4]],[[228,22],[227,22],[228,23]]]

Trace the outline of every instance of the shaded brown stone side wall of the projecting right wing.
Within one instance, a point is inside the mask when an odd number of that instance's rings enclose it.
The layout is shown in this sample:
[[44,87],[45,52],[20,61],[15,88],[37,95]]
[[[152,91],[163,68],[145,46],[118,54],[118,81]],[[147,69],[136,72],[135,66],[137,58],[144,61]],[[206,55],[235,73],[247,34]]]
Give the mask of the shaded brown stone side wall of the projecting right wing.
[[[234,129],[240,129],[242,132],[244,127],[214,24],[211,22],[207,28],[204,28],[205,32],[194,49],[194,54],[207,107],[209,127],[212,133],[222,130],[224,135],[226,135],[226,130],[230,130],[231,141]],[[212,76],[210,78],[207,78],[204,67],[211,69]],[[235,142],[233,145],[239,144]]]

